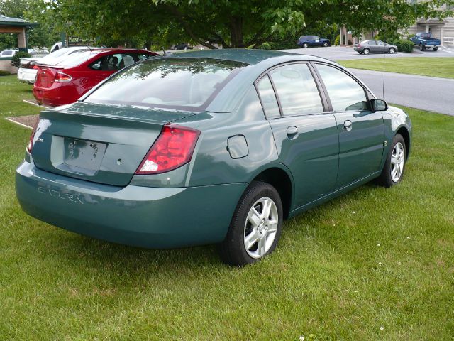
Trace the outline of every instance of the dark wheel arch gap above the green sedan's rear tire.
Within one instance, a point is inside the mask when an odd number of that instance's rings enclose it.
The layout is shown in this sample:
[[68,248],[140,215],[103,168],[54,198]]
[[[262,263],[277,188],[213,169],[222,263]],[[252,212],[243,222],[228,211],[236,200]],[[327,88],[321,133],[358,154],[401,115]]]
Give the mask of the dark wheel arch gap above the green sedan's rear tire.
[[282,209],[284,219],[289,217],[292,210],[292,201],[294,194],[294,183],[292,175],[283,167],[272,166],[261,171],[250,181],[264,181],[276,188],[282,200]]

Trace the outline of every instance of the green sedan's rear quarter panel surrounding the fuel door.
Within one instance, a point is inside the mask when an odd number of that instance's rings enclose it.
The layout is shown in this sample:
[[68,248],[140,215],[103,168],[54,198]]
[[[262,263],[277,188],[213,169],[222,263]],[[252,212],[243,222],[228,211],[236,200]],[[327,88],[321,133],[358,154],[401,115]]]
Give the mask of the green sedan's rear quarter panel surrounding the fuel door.
[[[175,123],[201,130],[187,177],[189,186],[249,183],[273,164],[279,166],[270,124],[252,85],[236,112],[205,112]],[[232,158],[227,140],[238,135],[245,137],[248,155]]]

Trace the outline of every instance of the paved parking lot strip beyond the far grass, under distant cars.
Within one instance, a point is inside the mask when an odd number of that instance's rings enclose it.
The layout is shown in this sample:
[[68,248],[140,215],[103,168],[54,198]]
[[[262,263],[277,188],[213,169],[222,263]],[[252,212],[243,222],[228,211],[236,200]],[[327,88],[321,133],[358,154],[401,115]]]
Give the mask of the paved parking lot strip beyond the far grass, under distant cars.
[[[370,59],[383,58],[383,53],[370,53],[369,55],[360,55],[353,48],[345,46],[330,46],[329,48],[294,48],[291,50],[283,50],[292,53],[301,53],[303,55],[316,55],[331,60],[347,60],[347,59]],[[395,53],[394,55],[385,55],[385,58],[400,58],[400,57],[454,57],[454,48],[440,48],[438,51],[420,51],[414,49],[413,53]]]

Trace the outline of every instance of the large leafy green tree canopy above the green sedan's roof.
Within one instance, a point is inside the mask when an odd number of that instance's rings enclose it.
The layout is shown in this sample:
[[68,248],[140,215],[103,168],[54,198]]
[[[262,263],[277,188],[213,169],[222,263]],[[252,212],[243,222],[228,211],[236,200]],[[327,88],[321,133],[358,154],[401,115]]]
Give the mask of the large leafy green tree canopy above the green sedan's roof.
[[[404,28],[417,18],[443,18],[454,0],[51,0],[62,28],[79,36],[126,43],[181,43],[209,48],[256,47],[295,36],[304,26],[345,25],[364,30]],[[321,24],[320,24],[321,23]],[[69,25],[70,24],[70,25]]]

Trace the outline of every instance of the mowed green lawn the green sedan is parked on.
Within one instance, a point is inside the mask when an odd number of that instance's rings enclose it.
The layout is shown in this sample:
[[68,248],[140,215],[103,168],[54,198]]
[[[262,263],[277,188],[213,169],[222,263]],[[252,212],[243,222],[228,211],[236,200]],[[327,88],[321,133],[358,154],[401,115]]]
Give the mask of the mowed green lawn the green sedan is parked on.
[[31,131],[4,119],[38,113],[23,98],[30,85],[0,77],[0,340],[452,339],[454,117],[408,109],[400,185],[284,222],[272,256],[236,269],[213,246],[123,247],[23,213]]

